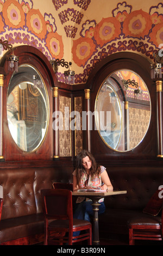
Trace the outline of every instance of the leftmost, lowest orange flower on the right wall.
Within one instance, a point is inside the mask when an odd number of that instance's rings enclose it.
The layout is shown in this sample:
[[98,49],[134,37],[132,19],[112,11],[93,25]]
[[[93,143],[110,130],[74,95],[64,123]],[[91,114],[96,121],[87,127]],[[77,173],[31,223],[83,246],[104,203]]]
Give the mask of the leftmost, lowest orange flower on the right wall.
[[79,38],[73,41],[73,60],[78,66],[84,66],[95,51],[96,45],[90,38]]

